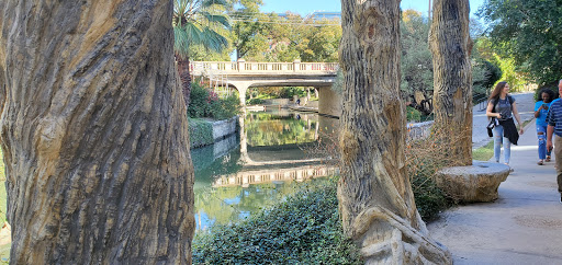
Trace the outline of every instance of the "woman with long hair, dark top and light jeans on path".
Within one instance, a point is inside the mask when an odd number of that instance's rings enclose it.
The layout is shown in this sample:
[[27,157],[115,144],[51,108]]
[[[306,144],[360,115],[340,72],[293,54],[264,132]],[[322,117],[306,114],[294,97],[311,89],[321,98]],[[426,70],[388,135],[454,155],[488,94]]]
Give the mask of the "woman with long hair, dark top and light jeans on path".
[[[517,104],[515,99],[508,94],[509,84],[502,81],[496,84],[488,99],[486,116],[496,118],[497,123],[494,127],[494,158],[496,163],[499,163],[499,152],[502,151],[502,143],[504,146],[504,163],[509,165],[509,158],[512,155],[512,143],[517,145],[519,134],[522,135],[522,124],[519,113],[517,112]],[[517,119],[520,127],[517,134],[517,127],[513,117]],[[505,139],[504,139],[505,138]]]

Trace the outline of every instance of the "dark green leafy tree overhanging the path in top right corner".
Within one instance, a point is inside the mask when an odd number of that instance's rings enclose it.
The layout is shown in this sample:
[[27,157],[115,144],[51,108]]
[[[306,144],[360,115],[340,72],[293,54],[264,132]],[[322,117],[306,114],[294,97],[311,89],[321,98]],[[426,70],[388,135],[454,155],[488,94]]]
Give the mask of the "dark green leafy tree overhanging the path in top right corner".
[[499,56],[513,58],[517,71],[539,84],[562,77],[560,0],[488,0],[479,10]]

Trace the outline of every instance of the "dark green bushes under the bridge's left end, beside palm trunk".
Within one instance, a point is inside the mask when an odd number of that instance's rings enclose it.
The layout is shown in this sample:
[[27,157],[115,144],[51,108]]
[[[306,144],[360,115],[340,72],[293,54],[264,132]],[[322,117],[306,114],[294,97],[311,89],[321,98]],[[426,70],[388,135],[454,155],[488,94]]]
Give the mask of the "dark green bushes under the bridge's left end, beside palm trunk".
[[192,118],[210,117],[225,119],[238,115],[240,103],[236,94],[224,99],[198,82],[192,83],[188,115]]

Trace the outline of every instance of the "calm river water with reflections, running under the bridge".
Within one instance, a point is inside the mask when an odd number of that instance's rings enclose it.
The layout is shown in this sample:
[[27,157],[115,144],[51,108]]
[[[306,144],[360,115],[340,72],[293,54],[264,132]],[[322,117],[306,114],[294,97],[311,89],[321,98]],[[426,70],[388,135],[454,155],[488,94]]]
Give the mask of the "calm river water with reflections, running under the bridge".
[[288,110],[248,112],[240,130],[191,150],[196,231],[229,223],[282,200],[305,180],[334,175],[338,119]]

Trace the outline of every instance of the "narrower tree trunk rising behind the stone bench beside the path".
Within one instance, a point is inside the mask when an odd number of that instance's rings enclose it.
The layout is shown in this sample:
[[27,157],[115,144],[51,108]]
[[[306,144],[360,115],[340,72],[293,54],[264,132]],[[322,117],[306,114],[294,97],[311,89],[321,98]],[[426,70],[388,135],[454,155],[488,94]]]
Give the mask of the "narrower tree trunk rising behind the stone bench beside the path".
[[472,70],[469,0],[435,0],[429,46],[434,55],[434,114],[450,159],[472,164]]

